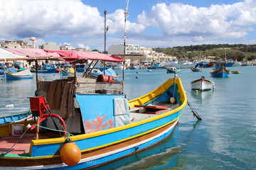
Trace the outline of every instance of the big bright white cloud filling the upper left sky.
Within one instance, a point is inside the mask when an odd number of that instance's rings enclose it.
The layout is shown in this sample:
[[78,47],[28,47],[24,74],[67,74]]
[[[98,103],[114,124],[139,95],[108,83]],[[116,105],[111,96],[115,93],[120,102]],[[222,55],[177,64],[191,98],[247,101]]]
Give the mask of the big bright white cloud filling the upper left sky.
[[49,34],[97,35],[103,18],[95,7],[71,1],[0,1],[0,35],[44,38]]

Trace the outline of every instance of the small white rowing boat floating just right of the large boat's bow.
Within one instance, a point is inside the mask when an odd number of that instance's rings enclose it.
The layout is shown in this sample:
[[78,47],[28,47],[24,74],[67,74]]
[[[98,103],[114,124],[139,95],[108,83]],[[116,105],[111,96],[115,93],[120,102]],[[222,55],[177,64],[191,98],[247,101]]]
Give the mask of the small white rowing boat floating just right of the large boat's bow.
[[214,89],[214,82],[207,80],[204,77],[201,77],[201,79],[191,81],[191,87],[193,90],[200,90],[200,91],[210,90],[210,89]]

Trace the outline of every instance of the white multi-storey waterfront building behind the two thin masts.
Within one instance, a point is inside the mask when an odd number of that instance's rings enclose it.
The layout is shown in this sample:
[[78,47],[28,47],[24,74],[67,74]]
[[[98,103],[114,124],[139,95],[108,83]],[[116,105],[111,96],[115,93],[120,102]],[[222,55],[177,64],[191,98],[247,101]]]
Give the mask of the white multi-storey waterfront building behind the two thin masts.
[[[121,55],[124,54],[124,44],[119,45],[110,45],[107,52],[109,55]],[[125,45],[125,55],[139,54],[140,47],[139,45],[126,44]]]

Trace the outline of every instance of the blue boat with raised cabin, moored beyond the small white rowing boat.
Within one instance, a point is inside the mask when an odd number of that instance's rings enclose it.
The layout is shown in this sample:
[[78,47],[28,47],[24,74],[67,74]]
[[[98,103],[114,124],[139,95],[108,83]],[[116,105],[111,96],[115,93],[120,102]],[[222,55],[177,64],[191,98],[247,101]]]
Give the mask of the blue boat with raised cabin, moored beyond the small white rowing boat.
[[225,62],[215,62],[215,68],[210,72],[212,77],[228,77],[230,71],[225,68]]

